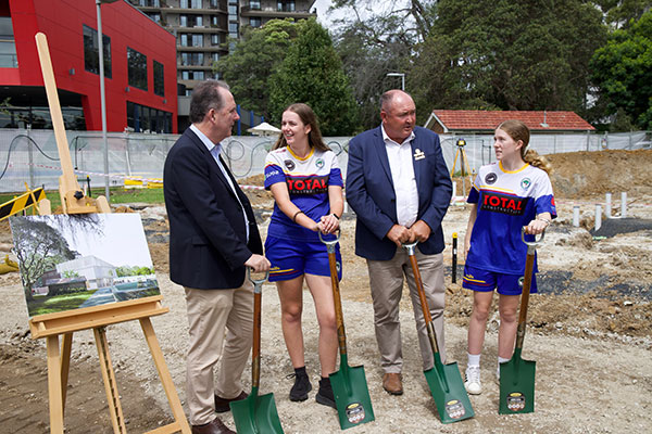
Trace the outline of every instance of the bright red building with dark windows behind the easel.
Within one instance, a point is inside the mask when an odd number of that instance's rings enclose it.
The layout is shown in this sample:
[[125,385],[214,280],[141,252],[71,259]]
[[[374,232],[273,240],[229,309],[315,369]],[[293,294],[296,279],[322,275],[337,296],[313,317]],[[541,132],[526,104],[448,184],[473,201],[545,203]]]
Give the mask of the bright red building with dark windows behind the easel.
[[[102,4],[106,130],[177,132],[176,41],[124,0]],[[35,35],[48,38],[67,129],[101,130],[95,0],[0,0],[0,127],[52,128]]]

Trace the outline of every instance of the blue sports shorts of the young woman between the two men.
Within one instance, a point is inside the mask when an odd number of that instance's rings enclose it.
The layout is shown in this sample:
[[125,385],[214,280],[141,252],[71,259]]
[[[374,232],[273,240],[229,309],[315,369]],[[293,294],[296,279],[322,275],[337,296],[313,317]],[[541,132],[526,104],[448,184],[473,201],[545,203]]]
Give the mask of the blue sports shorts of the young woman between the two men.
[[[296,241],[267,235],[265,257],[272,263],[269,282],[291,280],[309,273],[330,277],[328,251],[321,241]],[[338,280],[342,279],[339,243],[335,245]]]

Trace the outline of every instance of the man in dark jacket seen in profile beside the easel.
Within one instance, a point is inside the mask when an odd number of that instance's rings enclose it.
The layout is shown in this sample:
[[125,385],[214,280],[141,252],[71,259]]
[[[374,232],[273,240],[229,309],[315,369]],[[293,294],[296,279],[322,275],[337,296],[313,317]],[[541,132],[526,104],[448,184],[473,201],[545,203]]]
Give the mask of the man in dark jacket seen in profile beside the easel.
[[269,269],[251,204],[220,156],[238,118],[224,82],[200,84],[190,100],[192,125],[170,150],[163,173],[170,278],[185,289],[190,327],[186,382],[193,434],[235,433],[214,411],[228,411],[229,401],[247,396],[240,376],[253,336],[253,286],[244,270]]

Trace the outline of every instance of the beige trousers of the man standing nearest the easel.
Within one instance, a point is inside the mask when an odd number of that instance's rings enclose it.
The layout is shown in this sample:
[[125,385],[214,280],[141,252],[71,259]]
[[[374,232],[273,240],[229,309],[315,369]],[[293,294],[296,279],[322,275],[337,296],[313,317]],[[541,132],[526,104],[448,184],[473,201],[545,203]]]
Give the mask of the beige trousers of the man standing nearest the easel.
[[213,394],[230,399],[242,392],[240,378],[253,340],[253,284],[246,280],[234,290],[185,290],[190,326],[186,399],[190,423],[201,425],[215,419]]

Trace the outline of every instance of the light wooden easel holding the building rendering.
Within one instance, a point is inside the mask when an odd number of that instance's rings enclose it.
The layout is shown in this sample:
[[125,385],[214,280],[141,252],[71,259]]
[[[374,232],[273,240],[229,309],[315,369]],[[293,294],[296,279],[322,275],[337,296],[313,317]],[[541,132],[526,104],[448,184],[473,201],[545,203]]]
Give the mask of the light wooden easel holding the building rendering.
[[[79,189],[77,179],[74,176],[65,128],[63,126],[63,116],[59,105],[57,94],[57,85],[54,73],[50,60],[48,41],[43,34],[36,34],[36,44],[38,48],[48,103],[54,127],[54,137],[59,149],[59,157],[63,175],[59,178],[59,193],[61,204],[66,214],[90,214],[90,213],[110,213],[109,202],[104,196],[97,200],[87,197]],[[40,201],[43,206],[39,206],[40,214],[49,214],[49,201]],[[152,434],[181,432],[190,434],[190,426],[186,420],[186,414],[181,403],[174,387],[172,375],[165,365],[163,353],[156,340],[154,329],[150,317],[162,315],[170,311],[168,308],[161,305],[161,295],[138,298],[127,302],[120,302],[103,306],[86,307],[64,312],[46,314],[33,317],[29,320],[29,330],[33,339],[47,339],[48,352],[48,394],[50,401],[50,433],[63,434],[63,413],[65,409],[65,398],[67,388],[67,378],[70,371],[71,349],[73,343],[73,333],[80,330],[92,329],[98,347],[100,359],[100,370],[104,380],[104,390],[109,411],[111,412],[111,422],[113,432],[124,434],[127,432],[122,407],[120,404],[120,394],[116,388],[115,372],[109,355],[109,344],[106,342],[105,328],[125,321],[139,320],[145,339],[150,353],[159,371],[159,376],[163,384],[163,390],[167,396],[167,401],[172,409],[175,422],[160,426],[150,431]],[[63,334],[61,349],[59,346],[59,335]]]

